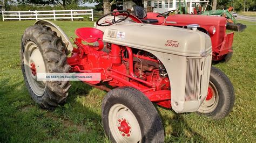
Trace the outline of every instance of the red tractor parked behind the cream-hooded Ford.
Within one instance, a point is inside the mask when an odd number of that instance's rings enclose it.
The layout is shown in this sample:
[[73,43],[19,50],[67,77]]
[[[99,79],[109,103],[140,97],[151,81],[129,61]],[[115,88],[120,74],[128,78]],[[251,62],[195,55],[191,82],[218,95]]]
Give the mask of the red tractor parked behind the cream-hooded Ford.
[[[208,34],[212,41],[212,61],[213,63],[227,62],[233,55],[233,37],[234,33],[226,34],[226,18],[201,16],[201,15],[171,15],[176,10],[164,13],[145,12],[144,8],[134,6],[134,17],[131,19],[137,23],[147,23],[153,25],[176,26],[181,28],[190,28],[187,25],[194,25],[199,31]],[[118,15],[125,15],[122,13]]]

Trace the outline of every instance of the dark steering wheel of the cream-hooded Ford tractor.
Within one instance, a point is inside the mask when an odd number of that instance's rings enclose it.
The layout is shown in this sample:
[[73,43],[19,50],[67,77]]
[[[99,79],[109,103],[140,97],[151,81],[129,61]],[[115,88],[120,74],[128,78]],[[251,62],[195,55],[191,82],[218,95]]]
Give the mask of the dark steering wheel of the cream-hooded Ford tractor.
[[[120,18],[116,21],[116,15],[118,15],[118,13],[121,13],[121,12],[124,12],[124,13],[127,13],[127,15],[124,17],[124,18]],[[103,23],[100,23],[99,24],[99,21],[102,20],[104,17],[106,16],[109,16],[109,15],[113,15],[114,18],[113,19],[104,19]],[[123,22],[125,19],[127,19],[128,17],[130,16],[130,12],[126,11],[126,10],[118,10],[118,11],[113,11],[113,12],[110,12],[110,13],[107,13],[106,15],[100,17],[97,22],[96,22],[96,25],[98,26],[110,26],[110,25],[113,25],[115,23],[120,23],[120,22]]]

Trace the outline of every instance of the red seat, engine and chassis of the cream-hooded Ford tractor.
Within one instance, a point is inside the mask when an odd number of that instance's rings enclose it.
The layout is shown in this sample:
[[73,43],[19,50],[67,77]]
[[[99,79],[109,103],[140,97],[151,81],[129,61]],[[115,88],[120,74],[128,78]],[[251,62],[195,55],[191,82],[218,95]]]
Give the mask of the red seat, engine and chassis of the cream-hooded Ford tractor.
[[[80,31],[89,31],[80,33]],[[90,37],[93,32],[95,38]],[[97,32],[99,35],[97,35]],[[72,55],[67,59],[70,65],[70,72],[79,73],[100,73],[101,81],[83,81],[93,87],[101,90],[109,90],[104,84],[111,87],[129,86],[142,91],[152,102],[166,108],[171,108],[171,91],[170,81],[168,77],[159,75],[158,66],[143,67],[147,74],[138,69],[139,62],[133,58],[139,58],[151,62],[153,65],[159,65],[157,59],[152,59],[146,54],[134,54],[130,47],[119,46],[115,44],[109,45],[101,51],[99,47],[92,46],[93,44],[85,45],[82,41],[97,42],[102,41],[102,33],[93,28],[80,28],[77,30],[79,38],[75,39],[77,48],[73,48]],[[86,35],[89,34],[89,35]],[[105,52],[109,50],[108,52]],[[125,53],[125,54],[124,54]],[[125,56],[126,55],[126,56]],[[137,68],[135,67],[137,65]],[[122,120],[118,120],[119,123]]]

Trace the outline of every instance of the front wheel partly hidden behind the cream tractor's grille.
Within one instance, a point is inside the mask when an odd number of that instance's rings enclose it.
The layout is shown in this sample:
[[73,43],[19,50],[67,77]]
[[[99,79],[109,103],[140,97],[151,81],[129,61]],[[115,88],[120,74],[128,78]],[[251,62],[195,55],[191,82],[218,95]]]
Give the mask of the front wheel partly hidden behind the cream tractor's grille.
[[223,119],[232,110],[235,101],[230,79],[218,68],[212,67],[208,95],[198,113],[212,119]]

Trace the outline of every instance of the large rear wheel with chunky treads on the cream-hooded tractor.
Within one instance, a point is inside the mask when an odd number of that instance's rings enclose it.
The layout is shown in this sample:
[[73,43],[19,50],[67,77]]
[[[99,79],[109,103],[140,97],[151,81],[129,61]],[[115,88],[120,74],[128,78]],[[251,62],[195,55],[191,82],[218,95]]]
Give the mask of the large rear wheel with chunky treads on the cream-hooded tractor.
[[68,73],[65,44],[56,32],[43,25],[26,28],[21,44],[21,68],[28,91],[46,109],[65,102],[68,81],[37,81],[37,73]]

